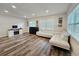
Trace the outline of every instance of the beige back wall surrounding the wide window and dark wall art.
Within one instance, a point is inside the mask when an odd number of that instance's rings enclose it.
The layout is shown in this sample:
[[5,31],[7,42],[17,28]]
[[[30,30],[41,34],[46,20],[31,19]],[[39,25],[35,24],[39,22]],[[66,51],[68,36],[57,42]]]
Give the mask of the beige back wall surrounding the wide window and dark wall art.
[[[63,26],[62,27],[58,27],[59,17],[63,17]],[[43,27],[41,27],[42,24],[40,24],[39,22],[41,22],[43,20],[44,21],[50,20],[55,25],[55,27],[52,27],[51,29],[59,30],[59,31],[66,30],[66,20],[67,20],[66,19],[66,14],[57,14],[57,15],[42,16],[42,17],[37,17],[37,18],[31,18],[31,19],[28,19],[28,20],[38,20],[38,26],[39,26],[39,28],[43,28]],[[50,25],[50,26],[52,26],[52,25]]]

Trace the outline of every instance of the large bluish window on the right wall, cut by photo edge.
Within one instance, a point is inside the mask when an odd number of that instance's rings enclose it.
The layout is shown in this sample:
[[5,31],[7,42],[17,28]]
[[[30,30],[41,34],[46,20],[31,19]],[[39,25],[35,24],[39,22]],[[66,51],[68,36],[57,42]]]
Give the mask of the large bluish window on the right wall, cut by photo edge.
[[79,5],[68,16],[68,32],[79,41]]

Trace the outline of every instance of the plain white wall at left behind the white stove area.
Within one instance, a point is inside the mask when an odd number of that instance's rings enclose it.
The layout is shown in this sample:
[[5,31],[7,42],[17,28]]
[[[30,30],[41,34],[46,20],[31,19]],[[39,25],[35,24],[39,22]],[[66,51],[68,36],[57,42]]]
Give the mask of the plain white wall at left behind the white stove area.
[[0,15],[0,37],[7,36],[8,29],[14,24],[19,24],[24,27],[24,22],[24,19]]

